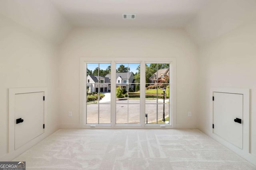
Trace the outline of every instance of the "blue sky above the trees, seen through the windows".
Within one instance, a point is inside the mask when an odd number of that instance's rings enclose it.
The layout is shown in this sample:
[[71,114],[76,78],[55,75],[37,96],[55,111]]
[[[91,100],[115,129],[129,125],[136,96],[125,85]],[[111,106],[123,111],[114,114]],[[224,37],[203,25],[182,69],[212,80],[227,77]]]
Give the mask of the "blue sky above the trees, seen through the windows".
[[[124,64],[122,63],[124,66],[128,67],[129,65],[129,68],[130,68],[130,72],[133,72],[133,73],[136,73],[138,72],[138,70],[136,70],[136,68],[140,65],[139,63],[138,64],[134,64],[134,63],[129,63],[129,64]],[[110,66],[111,64],[110,63],[100,63],[100,69],[102,70],[106,70],[106,68],[108,68],[108,66]],[[118,68],[121,64],[116,64],[116,68]],[[98,67],[98,63],[87,63],[87,68],[89,70],[95,70],[95,68]]]

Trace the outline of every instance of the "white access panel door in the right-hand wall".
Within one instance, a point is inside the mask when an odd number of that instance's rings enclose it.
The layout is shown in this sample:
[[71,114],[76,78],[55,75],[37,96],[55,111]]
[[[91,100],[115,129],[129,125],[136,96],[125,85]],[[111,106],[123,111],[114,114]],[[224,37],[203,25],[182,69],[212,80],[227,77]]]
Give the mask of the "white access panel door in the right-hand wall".
[[213,96],[213,133],[243,149],[243,95],[214,92]]

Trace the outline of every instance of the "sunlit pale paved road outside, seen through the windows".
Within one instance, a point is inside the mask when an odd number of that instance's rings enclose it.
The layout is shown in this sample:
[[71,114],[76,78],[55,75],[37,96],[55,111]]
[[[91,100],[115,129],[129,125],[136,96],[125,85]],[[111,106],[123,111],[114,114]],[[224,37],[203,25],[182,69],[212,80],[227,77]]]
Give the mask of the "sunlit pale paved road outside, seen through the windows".
[[[105,93],[100,104],[88,104],[87,123],[110,123],[110,93]],[[129,105],[127,103],[129,102]],[[116,123],[140,123],[140,100],[117,100],[116,101]],[[162,119],[163,100],[146,100],[146,113],[148,123]],[[165,103],[165,116],[169,115],[169,104]],[[98,115],[100,110],[100,115]],[[157,117],[158,112],[158,117]],[[164,123],[164,122],[163,122]]]

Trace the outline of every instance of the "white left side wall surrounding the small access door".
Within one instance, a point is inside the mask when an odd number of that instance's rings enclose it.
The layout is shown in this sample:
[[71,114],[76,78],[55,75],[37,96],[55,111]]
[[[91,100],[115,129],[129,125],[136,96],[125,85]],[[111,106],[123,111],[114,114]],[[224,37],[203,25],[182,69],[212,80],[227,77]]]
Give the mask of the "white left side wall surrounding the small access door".
[[[48,88],[47,135],[58,129],[58,53],[41,36],[0,15],[0,160],[8,157],[8,88]],[[10,157],[9,157],[10,158]]]

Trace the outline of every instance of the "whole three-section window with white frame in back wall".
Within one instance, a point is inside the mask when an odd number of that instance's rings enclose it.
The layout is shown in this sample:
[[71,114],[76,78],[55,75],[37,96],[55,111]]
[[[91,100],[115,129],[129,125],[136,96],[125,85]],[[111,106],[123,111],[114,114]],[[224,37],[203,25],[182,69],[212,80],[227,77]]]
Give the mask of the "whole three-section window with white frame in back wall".
[[96,61],[83,61],[86,127],[171,127],[175,60]]

